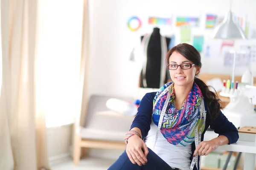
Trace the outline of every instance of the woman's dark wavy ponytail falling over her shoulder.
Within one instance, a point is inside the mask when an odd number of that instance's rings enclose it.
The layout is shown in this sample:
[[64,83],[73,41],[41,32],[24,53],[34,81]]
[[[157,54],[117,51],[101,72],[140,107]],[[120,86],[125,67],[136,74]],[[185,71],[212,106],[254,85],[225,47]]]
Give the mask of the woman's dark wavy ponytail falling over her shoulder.
[[202,91],[205,102],[207,103],[207,111],[210,113],[212,122],[218,117],[220,110],[222,109],[221,99],[218,98],[216,91],[215,93],[210,91],[209,86],[207,86],[201,79],[195,77],[194,81]]

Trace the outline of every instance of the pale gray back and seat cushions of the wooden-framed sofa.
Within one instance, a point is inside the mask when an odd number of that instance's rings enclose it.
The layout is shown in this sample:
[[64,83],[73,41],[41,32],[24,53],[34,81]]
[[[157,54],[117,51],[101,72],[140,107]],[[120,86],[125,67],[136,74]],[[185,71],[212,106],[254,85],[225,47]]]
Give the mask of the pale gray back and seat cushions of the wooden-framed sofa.
[[133,102],[132,98],[92,95],[89,99],[86,116],[81,116],[80,136],[86,139],[102,139],[108,141],[123,141],[125,133],[130,130],[134,117],[111,116],[96,114],[109,111],[106,102],[110,98]]

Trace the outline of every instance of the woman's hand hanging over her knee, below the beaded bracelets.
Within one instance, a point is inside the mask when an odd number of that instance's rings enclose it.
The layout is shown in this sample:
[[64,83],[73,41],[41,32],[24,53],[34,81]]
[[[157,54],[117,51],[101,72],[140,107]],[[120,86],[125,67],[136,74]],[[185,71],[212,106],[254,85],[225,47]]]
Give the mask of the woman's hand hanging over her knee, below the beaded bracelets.
[[137,135],[129,137],[126,146],[126,153],[131,163],[140,166],[147,163],[148,147],[145,142]]

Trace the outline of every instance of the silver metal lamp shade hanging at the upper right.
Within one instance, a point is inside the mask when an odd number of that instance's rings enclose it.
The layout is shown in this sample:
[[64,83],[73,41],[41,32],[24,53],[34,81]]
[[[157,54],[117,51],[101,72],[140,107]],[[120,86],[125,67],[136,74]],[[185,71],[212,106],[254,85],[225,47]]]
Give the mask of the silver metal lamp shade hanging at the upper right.
[[211,38],[215,39],[247,39],[242,28],[234,23],[233,14],[228,12],[221,24],[219,24],[211,34]]

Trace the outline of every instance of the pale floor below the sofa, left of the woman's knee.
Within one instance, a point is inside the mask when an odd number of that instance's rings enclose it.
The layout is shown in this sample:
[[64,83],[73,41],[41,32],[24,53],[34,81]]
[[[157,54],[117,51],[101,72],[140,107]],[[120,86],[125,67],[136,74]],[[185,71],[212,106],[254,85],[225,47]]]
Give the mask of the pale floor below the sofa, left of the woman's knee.
[[107,170],[115,160],[87,157],[81,159],[79,165],[75,166],[70,159],[61,164],[52,165],[52,170]]

